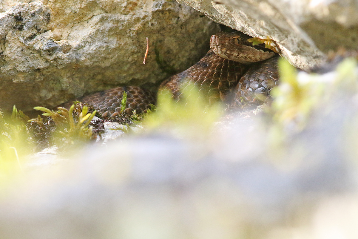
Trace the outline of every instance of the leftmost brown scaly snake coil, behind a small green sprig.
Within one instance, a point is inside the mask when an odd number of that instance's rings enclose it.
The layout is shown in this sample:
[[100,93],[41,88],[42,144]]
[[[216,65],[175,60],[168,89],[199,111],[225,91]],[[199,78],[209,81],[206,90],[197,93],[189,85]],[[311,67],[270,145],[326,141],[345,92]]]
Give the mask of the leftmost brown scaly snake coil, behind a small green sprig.
[[127,105],[124,113],[128,115],[132,115],[133,110],[137,114],[144,113],[150,109],[150,104],[155,105],[156,103],[155,94],[138,86],[116,87],[76,100],[93,105],[95,110],[103,116],[113,117],[121,112],[123,92],[127,93]]

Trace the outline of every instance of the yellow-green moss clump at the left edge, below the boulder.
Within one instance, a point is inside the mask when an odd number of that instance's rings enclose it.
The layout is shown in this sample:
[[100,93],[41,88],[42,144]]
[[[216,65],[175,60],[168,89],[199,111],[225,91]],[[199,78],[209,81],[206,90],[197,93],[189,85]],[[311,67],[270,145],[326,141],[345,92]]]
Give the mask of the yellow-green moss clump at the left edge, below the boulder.
[[47,117],[30,119],[15,106],[11,116],[6,117],[0,111],[0,185],[9,176],[23,171],[25,156],[51,145],[69,150],[92,137],[89,123],[96,111],[88,113],[87,106],[72,105],[69,110],[59,107],[57,111],[35,109]]

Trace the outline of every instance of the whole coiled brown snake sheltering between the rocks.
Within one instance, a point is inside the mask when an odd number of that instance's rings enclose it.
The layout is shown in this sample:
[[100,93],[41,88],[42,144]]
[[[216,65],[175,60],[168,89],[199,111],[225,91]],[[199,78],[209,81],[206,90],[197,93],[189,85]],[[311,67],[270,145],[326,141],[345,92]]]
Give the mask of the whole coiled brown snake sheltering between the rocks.
[[[253,47],[249,38],[241,32],[212,35],[211,50],[192,67],[161,83],[159,92],[168,89],[180,100],[183,88],[196,86],[208,104],[223,101],[237,106],[268,101],[279,79],[278,56],[264,46]],[[93,105],[103,116],[115,116],[121,112],[123,92],[127,93],[124,112],[129,115],[133,110],[143,113],[156,103],[155,94],[138,86],[116,87],[76,100]]]

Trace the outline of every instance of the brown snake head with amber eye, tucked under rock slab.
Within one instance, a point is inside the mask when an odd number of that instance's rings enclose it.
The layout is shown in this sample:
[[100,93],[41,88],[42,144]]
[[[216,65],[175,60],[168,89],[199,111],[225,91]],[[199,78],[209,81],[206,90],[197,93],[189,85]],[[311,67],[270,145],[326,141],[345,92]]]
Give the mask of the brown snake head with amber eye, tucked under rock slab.
[[241,32],[218,32],[210,38],[210,48],[220,57],[243,64],[263,61],[275,55],[275,52],[265,46],[252,46],[249,35]]

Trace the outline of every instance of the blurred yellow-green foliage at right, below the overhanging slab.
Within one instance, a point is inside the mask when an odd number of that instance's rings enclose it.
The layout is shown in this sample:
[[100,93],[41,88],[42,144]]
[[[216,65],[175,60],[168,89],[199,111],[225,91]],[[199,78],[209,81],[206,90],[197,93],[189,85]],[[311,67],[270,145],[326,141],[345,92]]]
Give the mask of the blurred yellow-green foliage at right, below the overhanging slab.
[[349,97],[358,93],[357,60],[354,58],[341,62],[335,77],[327,77],[326,81],[316,74],[297,78],[296,68],[284,58],[280,58],[279,69],[280,85],[272,89],[274,101],[266,110],[272,116],[273,126],[286,132],[303,130],[313,111],[332,108],[330,101],[336,99],[337,94],[343,92]]

